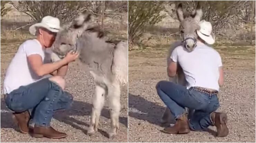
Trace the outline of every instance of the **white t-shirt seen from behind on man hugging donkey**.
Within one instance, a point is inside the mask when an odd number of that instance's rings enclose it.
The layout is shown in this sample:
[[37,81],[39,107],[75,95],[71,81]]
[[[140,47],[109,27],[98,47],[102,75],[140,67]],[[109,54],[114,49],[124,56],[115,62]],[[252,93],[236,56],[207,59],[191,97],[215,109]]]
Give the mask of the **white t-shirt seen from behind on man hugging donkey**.
[[183,46],[178,46],[171,58],[181,65],[188,82],[187,89],[199,86],[219,91],[219,67],[222,62],[220,54],[212,47],[197,42],[194,51],[189,53]]

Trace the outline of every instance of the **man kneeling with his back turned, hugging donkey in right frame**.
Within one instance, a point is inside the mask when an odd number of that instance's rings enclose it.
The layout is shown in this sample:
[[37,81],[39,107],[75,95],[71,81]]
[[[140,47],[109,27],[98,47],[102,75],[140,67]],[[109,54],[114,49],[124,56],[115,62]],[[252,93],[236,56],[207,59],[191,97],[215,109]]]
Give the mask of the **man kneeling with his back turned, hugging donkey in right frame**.
[[[188,86],[169,81],[160,81],[156,85],[159,97],[176,119],[174,126],[163,131],[171,134],[189,133],[190,129],[203,131],[209,125],[214,125],[217,127],[217,136],[227,136],[227,115],[215,112],[220,106],[219,86],[224,82],[221,57],[216,50],[205,44],[214,43],[210,35],[210,22],[203,20],[200,27],[194,51],[187,52],[182,46],[176,47],[170,57],[172,62],[168,65],[168,76],[174,77],[179,62]],[[185,107],[195,110],[189,121]]]

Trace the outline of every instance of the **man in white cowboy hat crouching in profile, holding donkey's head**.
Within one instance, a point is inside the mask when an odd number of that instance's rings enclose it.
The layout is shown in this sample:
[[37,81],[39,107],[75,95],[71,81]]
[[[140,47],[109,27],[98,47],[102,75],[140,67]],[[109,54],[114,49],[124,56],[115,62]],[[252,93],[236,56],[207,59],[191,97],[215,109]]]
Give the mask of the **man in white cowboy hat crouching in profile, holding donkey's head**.
[[70,107],[73,101],[72,95],[63,91],[63,77],[68,63],[75,61],[78,54],[68,53],[61,61],[51,63],[46,48],[52,46],[59,29],[60,21],[51,16],[30,26],[29,32],[37,37],[19,46],[4,79],[5,102],[14,111],[13,118],[20,132],[28,133],[30,122],[35,124],[34,137],[59,139],[67,136],[53,129],[50,122],[54,111]]

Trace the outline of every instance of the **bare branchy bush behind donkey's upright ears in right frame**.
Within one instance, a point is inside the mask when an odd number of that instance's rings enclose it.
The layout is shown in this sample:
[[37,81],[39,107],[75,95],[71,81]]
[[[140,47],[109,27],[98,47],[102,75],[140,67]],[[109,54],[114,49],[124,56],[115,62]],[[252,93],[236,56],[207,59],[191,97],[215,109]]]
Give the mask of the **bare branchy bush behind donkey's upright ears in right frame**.
[[[203,10],[202,19],[210,21],[213,26],[213,32],[219,34],[223,28],[227,28],[231,23],[237,23],[239,13],[247,9],[246,1],[200,1]],[[196,8],[198,1],[168,1],[168,4],[183,4],[183,9],[191,12]],[[177,19],[176,8],[164,9],[173,19]],[[248,15],[246,17],[249,17]],[[250,19],[250,17],[248,18]]]

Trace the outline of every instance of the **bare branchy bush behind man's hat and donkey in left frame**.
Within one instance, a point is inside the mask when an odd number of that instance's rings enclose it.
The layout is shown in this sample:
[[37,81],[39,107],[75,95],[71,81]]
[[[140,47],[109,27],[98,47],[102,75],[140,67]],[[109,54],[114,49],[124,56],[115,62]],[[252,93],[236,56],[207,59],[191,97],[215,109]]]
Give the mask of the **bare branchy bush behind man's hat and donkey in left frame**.
[[[61,22],[69,22],[84,11],[100,16],[103,8],[103,1],[19,1],[17,5],[13,2],[10,3],[19,12],[29,15],[36,22],[40,21],[46,15],[57,17]],[[105,9],[108,8],[108,5],[111,6],[110,3],[112,2],[106,1],[107,7]],[[115,3],[121,7],[120,11],[125,10],[125,6],[122,5],[125,2],[117,1]],[[104,16],[115,16],[112,12],[110,11],[104,14]]]

